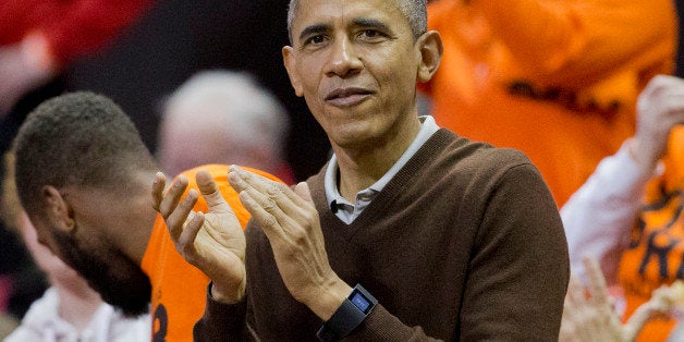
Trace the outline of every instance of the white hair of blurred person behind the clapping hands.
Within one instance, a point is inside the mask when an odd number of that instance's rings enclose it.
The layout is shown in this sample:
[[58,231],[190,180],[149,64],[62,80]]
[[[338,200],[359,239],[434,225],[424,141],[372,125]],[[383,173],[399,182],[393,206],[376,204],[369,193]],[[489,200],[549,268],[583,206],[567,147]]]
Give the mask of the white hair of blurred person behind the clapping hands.
[[223,144],[217,149],[225,149],[224,156],[235,157],[258,148],[269,151],[276,159],[284,151],[290,115],[280,100],[249,73],[228,70],[198,72],[181,85],[164,105],[158,150],[164,168],[173,163],[164,160],[169,147],[164,139],[191,126],[197,132],[213,132],[223,136]]

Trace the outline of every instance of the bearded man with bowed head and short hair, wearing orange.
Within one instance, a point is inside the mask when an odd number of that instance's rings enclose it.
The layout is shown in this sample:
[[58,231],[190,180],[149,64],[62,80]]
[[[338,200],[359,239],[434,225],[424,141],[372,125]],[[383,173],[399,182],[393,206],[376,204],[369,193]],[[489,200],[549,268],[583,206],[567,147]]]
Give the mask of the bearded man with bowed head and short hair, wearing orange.
[[[65,94],[38,106],[13,146],[17,194],[40,242],[124,314],[147,313],[151,303],[155,341],[192,341],[209,279],[178,253],[150,205],[149,184],[167,180],[156,178],[130,117],[105,96]],[[175,184],[197,199],[204,183],[194,181],[212,178],[244,227],[249,215],[228,184],[228,166],[185,171]],[[188,207],[208,210],[204,200]]]

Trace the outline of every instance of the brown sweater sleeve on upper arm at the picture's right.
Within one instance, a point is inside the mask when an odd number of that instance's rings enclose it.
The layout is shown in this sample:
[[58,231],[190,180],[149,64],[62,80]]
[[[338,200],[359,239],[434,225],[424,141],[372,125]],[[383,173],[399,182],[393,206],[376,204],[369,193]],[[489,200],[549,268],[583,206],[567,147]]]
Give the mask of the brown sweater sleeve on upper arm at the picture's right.
[[530,163],[489,182],[488,193],[469,196],[480,198],[485,210],[468,264],[460,337],[558,341],[570,278],[558,208]]

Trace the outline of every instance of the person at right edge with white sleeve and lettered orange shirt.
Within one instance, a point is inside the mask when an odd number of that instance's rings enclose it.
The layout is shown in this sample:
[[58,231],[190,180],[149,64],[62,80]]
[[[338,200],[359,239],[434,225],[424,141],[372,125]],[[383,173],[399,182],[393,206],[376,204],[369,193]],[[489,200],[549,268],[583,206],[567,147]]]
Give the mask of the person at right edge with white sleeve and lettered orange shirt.
[[[624,291],[624,317],[662,284],[684,278],[684,80],[656,76],[639,95],[636,134],[603,159],[561,208],[572,270],[595,257],[609,286]],[[663,341],[674,319],[642,337]]]

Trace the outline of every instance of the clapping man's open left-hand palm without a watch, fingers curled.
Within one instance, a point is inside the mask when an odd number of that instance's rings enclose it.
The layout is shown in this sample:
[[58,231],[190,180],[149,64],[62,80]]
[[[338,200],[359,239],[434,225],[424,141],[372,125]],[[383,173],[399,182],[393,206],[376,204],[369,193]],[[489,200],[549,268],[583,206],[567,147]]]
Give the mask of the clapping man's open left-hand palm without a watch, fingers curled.
[[196,175],[209,212],[193,211],[198,194],[180,175],[164,194],[166,176],[158,172],[152,184],[152,207],[161,213],[179,253],[212,281],[211,296],[221,303],[237,303],[245,294],[245,235],[233,209],[225,203],[210,173]]

